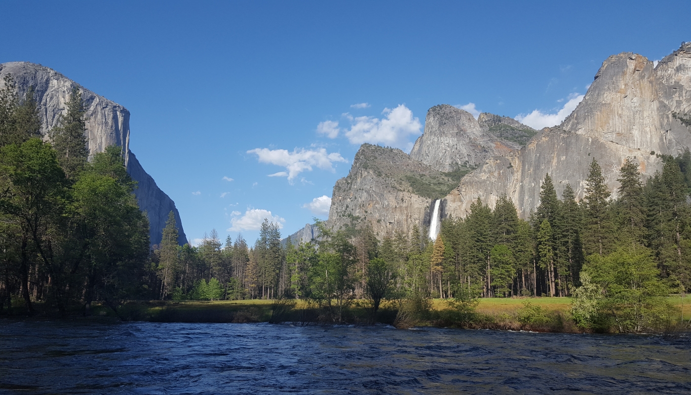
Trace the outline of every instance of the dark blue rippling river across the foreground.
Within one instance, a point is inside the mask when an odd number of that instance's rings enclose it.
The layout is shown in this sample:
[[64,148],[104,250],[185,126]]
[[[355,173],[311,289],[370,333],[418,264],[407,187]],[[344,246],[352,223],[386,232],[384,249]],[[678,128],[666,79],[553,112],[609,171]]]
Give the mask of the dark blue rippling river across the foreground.
[[0,392],[691,394],[691,344],[641,336],[0,320]]

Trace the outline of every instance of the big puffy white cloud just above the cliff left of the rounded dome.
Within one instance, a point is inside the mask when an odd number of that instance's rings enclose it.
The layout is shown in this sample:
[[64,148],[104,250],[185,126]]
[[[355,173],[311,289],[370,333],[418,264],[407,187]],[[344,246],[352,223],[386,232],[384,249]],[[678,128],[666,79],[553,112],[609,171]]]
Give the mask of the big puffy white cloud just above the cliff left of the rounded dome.
[[349,113],[343,114],[352,124],[350,129],[345,131],[350,143],[383,143],[391,147],[409,149],[408,136],[420,134],[420,120],[413,117],[413,111],[404,104],[399,104],[395,109],[384,109],[382,114],[386,118],[381,120],[367,116],[353,118]]

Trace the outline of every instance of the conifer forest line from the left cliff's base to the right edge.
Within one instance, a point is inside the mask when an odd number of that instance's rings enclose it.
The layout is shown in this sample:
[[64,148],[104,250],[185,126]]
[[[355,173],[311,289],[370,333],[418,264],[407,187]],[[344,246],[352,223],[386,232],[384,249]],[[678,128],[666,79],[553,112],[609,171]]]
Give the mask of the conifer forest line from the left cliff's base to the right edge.
[[417,227],[411,237],[395,232],[379,240],[357,221],[341,230],[317,221],[319,239],[281,247],[278,227],[265,221],[254,246],[238,237],[223,247],[214,231],[198,248],[178,247],[171,217],[164,232],[171,232],[164,237],[170,241],[158,252],[159,270],[164,270],[162,287],[177,291],[162,291],[161,297],[189,295],[200,280],[217,279],[224,299],[308,297],[340,303],[346,294],[367,294],[372,262],[385,265],[390,295],[450,298],[463,286],[482,297],[569,296],[582,285],[588,261],[622,248],[645,252],[656,277],[670,289],[687,291],[691,154],[662,158],[662,171],[645,183],[633,158],[627,158],[616,200],[610,199],[596,160],[580,202],[570,185],[559,198],[547,174],[540,205],[528,220],[518,217],[505,195],[493,209],[477,199],[465,218],[444,219],[435,241]]

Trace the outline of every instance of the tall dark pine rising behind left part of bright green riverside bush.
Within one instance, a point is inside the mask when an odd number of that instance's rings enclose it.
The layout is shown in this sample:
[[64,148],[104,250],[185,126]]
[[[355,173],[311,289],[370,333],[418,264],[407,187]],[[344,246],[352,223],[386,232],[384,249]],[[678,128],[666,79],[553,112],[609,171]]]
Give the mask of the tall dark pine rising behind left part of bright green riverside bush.
[[603,254],[612,250],[614,221],[609,210],[609,191],[605,176],[593,158],[585,186],[583,250],[587,255]]

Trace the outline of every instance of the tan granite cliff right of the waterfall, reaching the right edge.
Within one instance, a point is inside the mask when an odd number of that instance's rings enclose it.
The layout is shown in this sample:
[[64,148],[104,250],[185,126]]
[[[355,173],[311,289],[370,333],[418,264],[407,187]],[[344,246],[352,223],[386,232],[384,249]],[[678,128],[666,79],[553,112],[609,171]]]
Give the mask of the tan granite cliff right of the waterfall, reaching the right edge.
[[446,196],[447,211],[465,216],[477,197],[493,205],[507,193],[527,217],[539,204],[546,173],[558,194],[570,183],[578,199],[593,158],[603,167],[607,187],[616,197],[618,169],[627,156],[651,176],[661,168],[656,154],[681,153],[691,147],[683,119],[690,111],[691,43],[665,57],[656,68],[632,53],[609,57],[578,107],[559,127],[545,129],[529,144],[464,177]]

